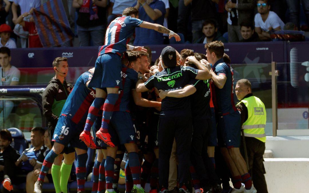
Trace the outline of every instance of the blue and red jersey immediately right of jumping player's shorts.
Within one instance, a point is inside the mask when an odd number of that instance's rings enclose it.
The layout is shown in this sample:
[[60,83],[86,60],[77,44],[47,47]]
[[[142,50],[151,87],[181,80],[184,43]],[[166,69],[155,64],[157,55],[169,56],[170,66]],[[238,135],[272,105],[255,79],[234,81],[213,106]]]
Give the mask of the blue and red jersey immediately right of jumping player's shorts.
[[126,66],[122,66],[122,86],[123,90],[118,91],[118,100],[115,103],[114,111],[129,111],[129,102],[131,99],[131,90],[135,89],[138,80],[138,73]]

